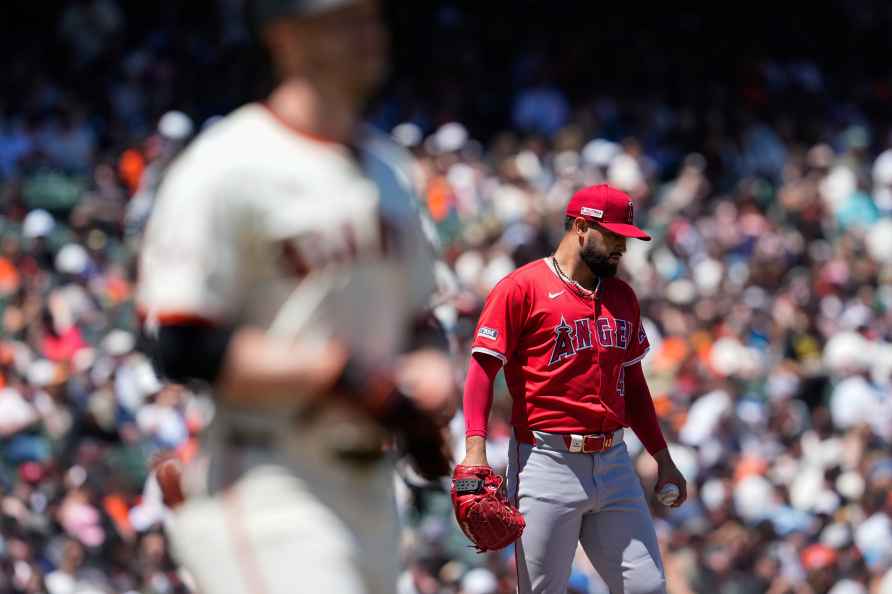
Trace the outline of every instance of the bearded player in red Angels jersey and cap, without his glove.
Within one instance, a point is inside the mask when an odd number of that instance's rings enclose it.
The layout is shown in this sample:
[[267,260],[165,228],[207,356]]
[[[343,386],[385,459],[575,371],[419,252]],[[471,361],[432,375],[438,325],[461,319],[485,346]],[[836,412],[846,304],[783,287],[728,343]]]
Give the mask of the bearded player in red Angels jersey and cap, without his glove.
[[480,315],[464,393],[467,455],[456,475],[488,466],[492,386],[504,366],[514,429],[507,494],[526,523],[516,545],[521,594],[563,594],[577,543],[614,594],[665,592],[623,443],[631,427],[659,464],[657,489],[675,485],[672,505],[681,505],[685,480],[641,370],[648,340],[638,301],[614,276],[627,238],[650,239],[633,212],[629,196],[607,185],[574,194],[554,254],[500,281]]

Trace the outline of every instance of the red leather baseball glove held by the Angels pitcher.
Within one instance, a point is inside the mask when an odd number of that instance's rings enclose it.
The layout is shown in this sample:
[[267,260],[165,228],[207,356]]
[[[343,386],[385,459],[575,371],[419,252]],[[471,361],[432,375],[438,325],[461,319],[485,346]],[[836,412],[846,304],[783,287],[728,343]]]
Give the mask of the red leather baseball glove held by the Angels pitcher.
[[458,465],[452,473],[455,519],[479,553],[508,546],[526,526],[520,511],[508,503],[502,483],[489,466]]

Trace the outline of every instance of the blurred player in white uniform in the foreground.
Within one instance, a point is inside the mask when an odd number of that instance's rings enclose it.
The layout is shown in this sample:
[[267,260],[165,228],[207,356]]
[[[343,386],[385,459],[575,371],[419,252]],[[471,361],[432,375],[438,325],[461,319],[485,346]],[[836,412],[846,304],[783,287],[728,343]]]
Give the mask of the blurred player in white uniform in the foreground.
[[402,154],[358,127],[384,32],[373,0],[255,8],[279,83],[172,165],[140,260],[161,368],[216,404],[168,533],[203,594],[393,594],[382,446],[448,475],[452,382],[442,351],[406,351],[433,258]]

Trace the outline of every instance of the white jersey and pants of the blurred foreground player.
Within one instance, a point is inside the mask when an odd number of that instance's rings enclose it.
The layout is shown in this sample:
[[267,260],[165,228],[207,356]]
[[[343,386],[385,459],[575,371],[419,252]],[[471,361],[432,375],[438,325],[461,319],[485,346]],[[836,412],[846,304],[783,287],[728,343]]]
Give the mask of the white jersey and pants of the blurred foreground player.
[[[354,150],[301,135],[259,104],[224,118],[161,186],[140,261],[148,323],[248,324],[392,361],[433,288],[404,159],[371,132]],[[336,454],[378,429],[342,407],[299,412],[218,402],[169,526],[203,594],[393,593],[391,461]]]

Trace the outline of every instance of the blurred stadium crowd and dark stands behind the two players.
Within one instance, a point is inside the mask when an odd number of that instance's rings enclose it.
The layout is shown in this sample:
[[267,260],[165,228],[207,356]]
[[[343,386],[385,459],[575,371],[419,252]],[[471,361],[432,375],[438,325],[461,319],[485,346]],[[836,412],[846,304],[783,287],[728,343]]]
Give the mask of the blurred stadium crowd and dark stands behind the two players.
[[[189,591],[147,460],[192,455],[213,405],[140,353],[135,254],[171,159],[268,88],[240,4],[0,7],[2,594]],[[670,593],[892,594],[892,4],[385,8],[368,121],[417,157],[459,367],[572,191],[627,191],[655,240],[621,274],[689,481],[653,507]],[[502,382],[500,470],[508,410]],[[439,485],[399,485],[398,594],[514,591],[511,549],[477,555]],[[605,593],[577,557],[569,592]]]

